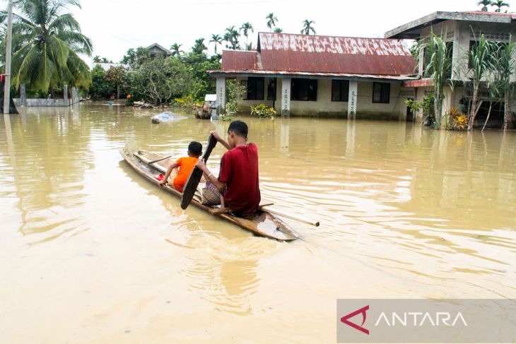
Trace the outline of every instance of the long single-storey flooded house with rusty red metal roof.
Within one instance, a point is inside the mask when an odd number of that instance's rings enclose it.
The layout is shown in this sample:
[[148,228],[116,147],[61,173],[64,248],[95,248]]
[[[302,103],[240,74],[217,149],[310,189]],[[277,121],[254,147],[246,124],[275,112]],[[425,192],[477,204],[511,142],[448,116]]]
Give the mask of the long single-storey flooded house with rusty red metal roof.
[[226,80],[236,79],[247,90],[240,109],[265,104],[283,116],[403,117],[402,83],[418,78],[404,40],[271,32],[259,32],[255,51],[223,51],[221,70],[209,73],[219,113]]

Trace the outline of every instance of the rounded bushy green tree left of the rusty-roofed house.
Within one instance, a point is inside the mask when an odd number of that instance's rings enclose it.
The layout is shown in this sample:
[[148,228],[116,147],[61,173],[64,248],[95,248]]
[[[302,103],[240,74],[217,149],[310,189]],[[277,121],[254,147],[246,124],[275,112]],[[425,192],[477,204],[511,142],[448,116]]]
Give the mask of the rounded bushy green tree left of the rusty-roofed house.
[[169,104],[192,88],[191,71],[175,57],[148,60],[128,77],[131,95],[156,105]]

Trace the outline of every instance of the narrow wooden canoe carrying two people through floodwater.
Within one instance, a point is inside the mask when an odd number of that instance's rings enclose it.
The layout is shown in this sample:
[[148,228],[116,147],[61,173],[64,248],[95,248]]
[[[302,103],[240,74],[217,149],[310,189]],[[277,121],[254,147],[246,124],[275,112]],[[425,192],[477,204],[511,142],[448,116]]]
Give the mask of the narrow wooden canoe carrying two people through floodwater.
[[[158,185],[158,180],[154,178],[154,176],[159,173],[165,174],[167,167],[172,162],[172,158],[161,160],[152,165],[148,165],[148,162],[159,160],[160,158],[163,158],[163,156],[156,153],[147,152],[145,150],[139,150],[137,153],[129,153],[128,150],[122,148],[119,151],[129,166],[131,166],[136,172],[141,174],[141,176],[147,179],[149,182],[160,187]],[[163,190],[169,192],[177,198],[181,198],[182,196],[179,191],[168,185],[163,186]],[[276,215],[267,213],[263,210],[257,210],[254,215],[240,218],[231,215],[230,213],[216,213],[218,207],[204,206],[196,199],[193,199],[191,204],[201,210],[206,211],[206,213],[212,216],[218,216],[218,218],[228,221],[229,223],[233,223],[234,225],[238,225],[244,230],[249,230],[255,235],[280,241],[292,241],[299,238],[299,235],[294,232],[290,226],[277,218]],[[179,203],[177,206],[179,206]],[[213,211],[214,213],[212,214]]]

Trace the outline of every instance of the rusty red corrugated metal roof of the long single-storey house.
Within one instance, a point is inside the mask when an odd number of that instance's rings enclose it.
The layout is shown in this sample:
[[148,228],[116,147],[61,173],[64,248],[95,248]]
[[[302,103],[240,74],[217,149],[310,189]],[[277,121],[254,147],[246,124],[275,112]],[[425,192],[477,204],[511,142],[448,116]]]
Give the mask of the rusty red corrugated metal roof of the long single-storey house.
[[414,73],[402,40],[260,32],[258,52],[224,51],[222,71],[365,74]]

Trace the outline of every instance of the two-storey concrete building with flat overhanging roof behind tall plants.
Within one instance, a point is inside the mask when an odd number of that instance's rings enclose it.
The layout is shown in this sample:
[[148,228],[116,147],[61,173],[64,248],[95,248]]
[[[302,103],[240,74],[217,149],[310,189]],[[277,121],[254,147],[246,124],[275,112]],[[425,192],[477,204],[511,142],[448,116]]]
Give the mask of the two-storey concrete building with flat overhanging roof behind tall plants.
[[[411,21],[404,25],[389,30],[385,33],[387,39],[420,39],[430,34],[430,30],[441,35],[452,48],[452,81],[453,89],[446,88],[443,115],[452,107],[467,110],[469,101],[473,96],[471,85],[464,83],[469,80],[467,74],[468,52],[476,45],[481,35],[486,40],[506,44],[516,40],[516,15],[513,13],[495,13],[483,11],[471,12],[435,12],[428,16]],[[424,49],[421,49],[418,65],[418,74],[423,76],[425,70]],[[514,77],[516,81],[516,76]],[[433,92],[433,83],[428,78],[419,78],[416,81],[405,81],[403,86],[409,93],[414,93],[417,100],[422,101],[423,96]],[[489,93],[486,88],[479,92],[481,107],[475,119],[475,125],[483,125],[488,116]],[[503,123],[503,103],[493,104],[488,127],[500,128]],[[514,112],[516,109],[512,109]],[[422,117],[422,112],[415,117]],[[512,124],[514,126],[514,124]]]

